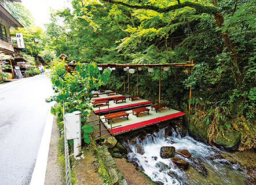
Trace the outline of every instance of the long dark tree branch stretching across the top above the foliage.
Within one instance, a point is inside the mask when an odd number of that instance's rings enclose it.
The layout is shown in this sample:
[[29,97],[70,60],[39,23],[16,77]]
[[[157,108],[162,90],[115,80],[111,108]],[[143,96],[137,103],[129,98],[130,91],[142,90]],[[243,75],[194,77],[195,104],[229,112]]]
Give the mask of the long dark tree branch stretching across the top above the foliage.
[[204,6],[200,3],[193,3],[193,2],[188,2],[188,1],[178,3],[176,5],[168,6],[166,8],[159,8],[157,6],[151,6],[151,5],[130,5],[130,4],[127,4],[124,2],[113,1],[113,0],[102,0],[102,1],[108,2],[108,3],[113,3],[116,5],[126,6],[128,8],[154,10],[155,12],[159,12],[159,13],[167,13],[167,12],[170,12],[171,10],[177,10],[177,9],[181,9],[181,8],[185,8],[185,7],[193,8],[198,13],[214,14],[214,13],[218,12],[218,8],[216,8],[215,6]]

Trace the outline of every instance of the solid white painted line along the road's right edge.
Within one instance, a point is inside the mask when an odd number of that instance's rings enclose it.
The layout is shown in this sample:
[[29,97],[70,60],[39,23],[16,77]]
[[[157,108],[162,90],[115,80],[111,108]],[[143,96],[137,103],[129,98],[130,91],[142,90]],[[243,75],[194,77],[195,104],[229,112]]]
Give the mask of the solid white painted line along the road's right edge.
[[38,156],[35,162],[35,168],[32,173],[30,185],[45,184],[45,174],[48,161],[50,138],[52,136],[53,114],[49,112],[45,123],[45,129],[43,129],[42,140],[38,150]]

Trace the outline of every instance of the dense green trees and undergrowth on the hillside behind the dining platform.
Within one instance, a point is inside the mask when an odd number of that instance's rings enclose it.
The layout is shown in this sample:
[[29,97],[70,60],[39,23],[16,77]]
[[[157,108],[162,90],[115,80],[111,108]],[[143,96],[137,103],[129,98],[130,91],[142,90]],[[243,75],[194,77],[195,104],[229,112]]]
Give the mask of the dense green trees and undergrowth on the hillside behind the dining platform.
[[[255,147],[256,1],[219,1],[224,16],[221,26],[216,24],[214,11],[178,8],[156,12],[133,8],[166,8],[177,1],[122,2],[131,8],[104,1],[74,0],[74,12],[53,12],[47,34],[57,56],[69,52],[70,61],[133,64],[193,60],[196,65],[192,73],[191,68],[161,72],[161,101],[184,112],[188,112],[190,103],[192,123],[206,125],[209,142],[217,138],[228,140],[225,134],[232,130],[241,135],[240,149]],[[195,3],[212,5],[212,1]],[[231,44],[226,43],[224,32]],[[142,69],[138,79],[138,94],[158,102],[159,69],[152,73]],[[190,87],[193,98],[189,101]],[[136,73],[129,76],[128,90],[127,73],[116,69],[107,88],[137,94]]]

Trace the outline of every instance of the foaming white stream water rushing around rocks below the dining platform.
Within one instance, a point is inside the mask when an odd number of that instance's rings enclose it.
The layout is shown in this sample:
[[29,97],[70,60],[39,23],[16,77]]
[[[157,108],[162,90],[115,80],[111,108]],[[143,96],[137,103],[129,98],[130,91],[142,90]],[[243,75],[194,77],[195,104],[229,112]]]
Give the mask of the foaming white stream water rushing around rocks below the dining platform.
[[[129,160],[137,161],[139,168],[155,182],[162,182],[164,185],[244,184],[244,177],[246,177],[246,175],[244,175],[243,169],[240,168],[238,164],[231,164],[231,162],[225,158],[209,160],[209,156],[216,156],[220,153],[223,154],[222,151],[207,146],[204,143],[197,142],[190,136],[181,138],[174,129],[172,136],[164,138],[164,129],[162,129],[158,133],[146,136],[142,142],[137,139],[137,144],[143,147],[145,153],[141,155],[137,153],[136,146],[129,145],[133,152],[128,154],[128,158]],[[189,159],[179,154],[175,154],[175,156],[188,161],[190,164],[189,169],[179,169],[170,159],[161,158],[160,148],[162,146],[174,146],[175,150],[188,150],[189,153],[192,154]],[[200,174],[192,168],[191,164],[195,164],[195,160],[199,160],[203,169],[207,169],[207,175],[203,176],[202,173]]]

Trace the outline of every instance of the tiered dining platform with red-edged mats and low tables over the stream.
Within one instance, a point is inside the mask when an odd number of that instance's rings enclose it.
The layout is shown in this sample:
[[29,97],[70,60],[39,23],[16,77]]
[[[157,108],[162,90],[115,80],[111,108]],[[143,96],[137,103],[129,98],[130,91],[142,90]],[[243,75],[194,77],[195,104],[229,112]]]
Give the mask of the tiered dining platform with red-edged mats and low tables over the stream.
[[142,95],[120,95],[118,91],[109,90],[107,92],[98,93],[99,96],[92,99],[93,111],[113,135],[162,123],[185,114],[171,109],[168,103],[153,105],[153,102],[142,99]]

